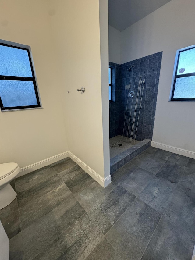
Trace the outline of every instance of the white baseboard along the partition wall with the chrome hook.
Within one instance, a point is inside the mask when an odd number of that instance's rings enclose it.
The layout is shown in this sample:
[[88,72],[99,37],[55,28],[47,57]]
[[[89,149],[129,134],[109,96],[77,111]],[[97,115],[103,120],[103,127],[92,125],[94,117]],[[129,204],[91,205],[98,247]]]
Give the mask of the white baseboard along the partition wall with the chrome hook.
[[94,180],[96,180],[101,186],[104,188],[111,183],[111,175],[106,177],[105,179],[101,177],[98,173],[96,173],[93,169],[91,169],[87,164],[82,162],[78,157],[69,152],[69,157],[76,162],[86,173],[88,173]]

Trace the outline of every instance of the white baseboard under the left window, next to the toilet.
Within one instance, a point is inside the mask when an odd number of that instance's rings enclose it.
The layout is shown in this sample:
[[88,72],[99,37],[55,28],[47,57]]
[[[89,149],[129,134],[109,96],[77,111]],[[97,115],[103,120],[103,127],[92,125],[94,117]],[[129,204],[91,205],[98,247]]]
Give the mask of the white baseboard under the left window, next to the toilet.
[[60,161],[60,160],[66,158],[68,156],[69,156],[69,152],[67,151],[67,152],[64,152],[64,153],[52,156],[50,158],[44,159],[44,160],[42,160],[40,162],[35,162],[35,163],[31,164],[31,165],[23,167],[23,168],[21,168],[21,171],[20,171],[20,173],[18,174],[18,176],[16,178],[18,178],[20,176],[23,176],[23,175],[25,175],[27,173],[31,173],[31,172],[33,172],[33,171],[35,171],[37,169],[40,169],[40,168],[42,168],[44,166],[48,166],[51,163]]

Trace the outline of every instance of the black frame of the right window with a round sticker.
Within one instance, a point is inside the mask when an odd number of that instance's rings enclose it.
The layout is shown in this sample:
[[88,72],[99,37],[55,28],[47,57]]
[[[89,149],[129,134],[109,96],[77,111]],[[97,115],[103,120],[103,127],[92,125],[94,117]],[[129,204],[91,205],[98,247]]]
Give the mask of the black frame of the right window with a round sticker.
[[176,80],[178,78],[195,76],[195,72],[177,75],[180,53],[181,52],[186,52],[186,51],[191,50],[191,49],[195,49],[195,45],[189,46],[189,47],[186,47],[186,48],[183,48],[183,49],[180,49],[180,50],[177,50],[177,52],[176,52],[175,69],[174,69],[174,74],[173,74],[174,79],[172,81],[172,93],[171,93],[171,98],[170,98],[169,101],[195,101],[195,98],[173,98],[174,92],[175,92]]

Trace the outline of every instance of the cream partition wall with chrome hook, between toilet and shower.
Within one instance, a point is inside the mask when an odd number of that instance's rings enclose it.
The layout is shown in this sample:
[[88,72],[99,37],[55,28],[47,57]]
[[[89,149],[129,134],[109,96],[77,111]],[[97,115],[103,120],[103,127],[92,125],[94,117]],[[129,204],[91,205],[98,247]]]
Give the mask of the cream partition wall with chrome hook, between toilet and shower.
[[[106,147],[103,146],[102,114],[108,121],[108,91],[101,86],[108,83],[108,46],[101,63],[99,1],[51,0],[48,12],[59,51],[58,68],[62,78],[69,151],[100,176],[107,177],[109,144],[107,141]],[[104,19],[101,22],[108,38],[108,11]],[[108,43],[108,39],[106,41]],[[101,81],[101,65],[104,71],[106,66],[104,83]],[[76,91],[81,87],[85,87],[85,93]],[[102,99],[102,95],[106,98]],[[104,113],[102,108],[105,108]],[[108,124],[104,122],[104,134],[109,139]]]

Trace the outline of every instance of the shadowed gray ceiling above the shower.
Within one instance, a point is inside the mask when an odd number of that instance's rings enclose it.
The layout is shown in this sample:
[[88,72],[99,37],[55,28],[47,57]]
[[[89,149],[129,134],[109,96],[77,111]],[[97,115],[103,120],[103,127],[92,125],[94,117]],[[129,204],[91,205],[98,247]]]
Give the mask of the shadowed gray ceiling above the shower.
[[122,31],[171,0],[108,0],[109,25]]

